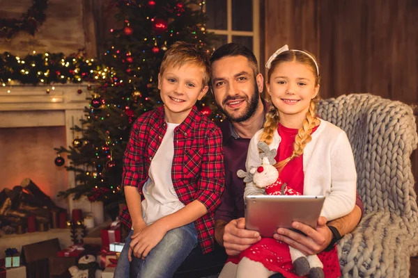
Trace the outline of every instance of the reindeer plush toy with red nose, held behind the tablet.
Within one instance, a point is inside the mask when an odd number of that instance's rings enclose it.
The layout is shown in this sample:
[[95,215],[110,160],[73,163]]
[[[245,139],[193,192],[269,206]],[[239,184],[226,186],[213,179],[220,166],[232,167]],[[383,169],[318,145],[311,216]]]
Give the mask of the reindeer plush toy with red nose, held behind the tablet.
[[[274,167],[276,161],[276,149],[271,149],[265,142],[258,142],[258,149],[261,149],[260,158],[261,165],[258,167],[251,166],[248,172],[238,170],[238,177],[244,178],[244,182],[253,182],[258,188],[263,188],[266,195],[300,195],[297,191],[288,187],[279,178],[279,172]],[[324,277],[323,263],[320,262],[318,256],[305,256],[299,250],[289,246],[293,268],[298,276],[309,275],[311,278]]]

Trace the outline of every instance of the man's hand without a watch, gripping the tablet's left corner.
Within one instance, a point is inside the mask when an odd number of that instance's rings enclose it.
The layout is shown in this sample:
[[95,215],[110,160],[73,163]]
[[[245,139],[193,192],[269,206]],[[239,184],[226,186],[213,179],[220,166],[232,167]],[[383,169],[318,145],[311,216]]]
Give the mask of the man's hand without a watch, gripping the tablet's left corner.
[[245,229],[245,218],[238,218],[226,224],[223,240],[226,254],[235,256],[261,240],[261,236],[258,231]]

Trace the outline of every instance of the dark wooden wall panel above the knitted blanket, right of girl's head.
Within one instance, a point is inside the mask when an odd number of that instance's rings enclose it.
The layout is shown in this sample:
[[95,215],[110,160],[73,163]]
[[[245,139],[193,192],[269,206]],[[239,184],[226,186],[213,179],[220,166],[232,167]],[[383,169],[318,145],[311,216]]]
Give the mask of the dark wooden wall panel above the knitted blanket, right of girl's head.
[[371,92],[417,103],[417,1],[316,3],[323,97]]

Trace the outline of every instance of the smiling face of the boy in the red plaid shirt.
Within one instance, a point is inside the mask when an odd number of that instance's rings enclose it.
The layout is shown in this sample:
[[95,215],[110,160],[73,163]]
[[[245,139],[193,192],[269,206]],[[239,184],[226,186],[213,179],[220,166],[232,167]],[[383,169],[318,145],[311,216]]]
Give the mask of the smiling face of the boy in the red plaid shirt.
[[158,89],[164,103],[165,120],[180,124],[196,101],[208,92],[208,85],[203,86],[203,68],[189,63],[166,67],[163,74],[158,74]]

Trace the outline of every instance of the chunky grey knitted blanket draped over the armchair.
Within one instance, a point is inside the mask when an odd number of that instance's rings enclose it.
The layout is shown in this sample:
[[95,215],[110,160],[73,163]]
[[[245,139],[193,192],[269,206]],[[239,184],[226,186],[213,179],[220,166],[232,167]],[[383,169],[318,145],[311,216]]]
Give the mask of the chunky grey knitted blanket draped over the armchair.
[[346,131],[364,203],[359,226],[343,237],[343,277],[405,277],[418,254],[417,196],[410,156],[417,148],[415,117],[400,101],[369,94],[320,101],[318,115]]

